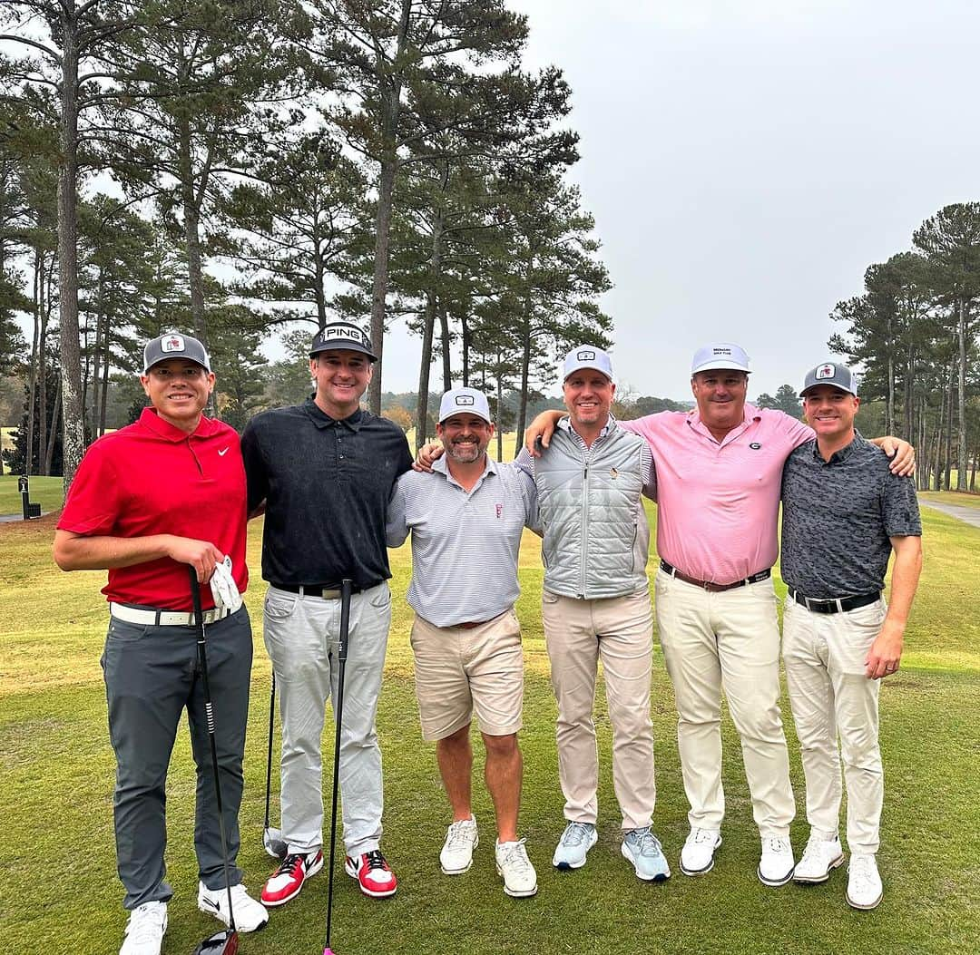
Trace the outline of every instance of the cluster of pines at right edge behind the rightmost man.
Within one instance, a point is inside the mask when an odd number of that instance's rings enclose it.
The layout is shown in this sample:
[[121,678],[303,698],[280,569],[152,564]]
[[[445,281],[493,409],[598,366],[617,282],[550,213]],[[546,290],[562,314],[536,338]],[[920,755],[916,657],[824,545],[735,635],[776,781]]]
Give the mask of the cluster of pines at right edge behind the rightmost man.
[[864,291],[831,317],[830,348],[863,368],[864,401],[912,442],[920,489],[976,490],[980,461],[980,203],[946,206],[912,248],[869,265]]

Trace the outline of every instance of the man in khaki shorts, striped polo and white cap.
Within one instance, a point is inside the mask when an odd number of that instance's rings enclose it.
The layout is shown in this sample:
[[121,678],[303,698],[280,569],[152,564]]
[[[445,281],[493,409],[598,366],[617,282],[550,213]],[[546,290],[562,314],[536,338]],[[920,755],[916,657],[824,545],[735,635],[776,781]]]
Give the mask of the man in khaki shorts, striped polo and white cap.
[[521,534],[537,525],[534,482],[486,454],[494,426],[480,392],[446,392],[436,432],[445,454],[431,472],[399,478],[387,536],[389,547],[401,547],[412,532],[408,599],[416,611],[418,712],[422,737],[436,742],[453,810],[439,864],[447,876],[462,875],[479,842],[470,805],[475,713],[497,815],[497,872],[508,895],[529,896],[538,885],[524,840],[517,838],[524,676],[514,603]]

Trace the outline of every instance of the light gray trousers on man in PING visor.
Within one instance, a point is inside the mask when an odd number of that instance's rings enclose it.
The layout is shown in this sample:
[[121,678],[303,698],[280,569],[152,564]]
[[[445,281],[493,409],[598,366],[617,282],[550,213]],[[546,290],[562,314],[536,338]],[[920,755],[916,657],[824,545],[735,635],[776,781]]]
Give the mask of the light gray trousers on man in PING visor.
[[[340,797],[349,856],[376,849],[384,809],[381,750],[374,717],[391,623],[391,591],[379,584],[351,598],[340,737]],[[270,587],[266,648],[275,671],[282,719],[282,837],[290,852],[323,844],[320,740],[326,701],[336,700],[340,600],[301,597]]]

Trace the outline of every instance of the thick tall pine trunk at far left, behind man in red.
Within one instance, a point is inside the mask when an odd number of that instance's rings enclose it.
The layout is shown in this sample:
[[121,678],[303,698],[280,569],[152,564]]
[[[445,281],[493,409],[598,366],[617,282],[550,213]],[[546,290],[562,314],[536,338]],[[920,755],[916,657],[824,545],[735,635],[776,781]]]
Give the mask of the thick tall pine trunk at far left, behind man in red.
[[[58,169],[58,294],[61,326],[61,393],[65,429],[65,493],[85,451],[78,349],[78,24],[74,0],[62,3],[62,88]],[[43,387],[43,381],[42,381]]]

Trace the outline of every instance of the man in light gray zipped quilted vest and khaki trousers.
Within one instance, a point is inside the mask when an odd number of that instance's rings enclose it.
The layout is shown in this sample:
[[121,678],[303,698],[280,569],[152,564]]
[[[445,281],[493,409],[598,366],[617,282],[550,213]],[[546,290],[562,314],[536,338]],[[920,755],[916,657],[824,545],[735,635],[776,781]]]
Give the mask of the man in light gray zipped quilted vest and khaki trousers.
[[592,719],[602,658],[613,725],[613,784],[622,812],[622,854],[636,875],[670,875],[651,830],[654,732],[650,718],[653,614],[647,582],[650,526],[641,496],[653,496],[653,456],[610,413],[609,355],[591,345],[564,359],[568,415],[540,457],[518,466],[534,475],[545,563],[542,617],[558,699],[559,775],[566,826],[559,869],[578,869],[596,842],[599,759]]

